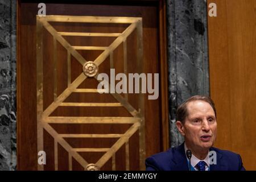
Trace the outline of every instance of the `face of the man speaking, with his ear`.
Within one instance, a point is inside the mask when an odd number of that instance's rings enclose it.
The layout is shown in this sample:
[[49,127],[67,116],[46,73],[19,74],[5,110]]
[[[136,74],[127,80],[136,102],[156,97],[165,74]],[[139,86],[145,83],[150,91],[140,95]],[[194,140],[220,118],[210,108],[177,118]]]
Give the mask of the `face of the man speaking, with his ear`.
[[187,104],[188,116],[180,124],[180,133],[184,135],[188,147],[198,150],[213,146],[217,133],[217,122],[212,106],[205,101],[192,101]]

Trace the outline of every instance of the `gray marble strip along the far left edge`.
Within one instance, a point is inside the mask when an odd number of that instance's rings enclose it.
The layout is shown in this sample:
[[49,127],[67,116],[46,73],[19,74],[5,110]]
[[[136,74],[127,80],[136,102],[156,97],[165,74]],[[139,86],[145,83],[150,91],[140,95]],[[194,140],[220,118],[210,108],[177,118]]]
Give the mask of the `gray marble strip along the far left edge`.
[[0,0],[0,170],[16,169],[16,1]]

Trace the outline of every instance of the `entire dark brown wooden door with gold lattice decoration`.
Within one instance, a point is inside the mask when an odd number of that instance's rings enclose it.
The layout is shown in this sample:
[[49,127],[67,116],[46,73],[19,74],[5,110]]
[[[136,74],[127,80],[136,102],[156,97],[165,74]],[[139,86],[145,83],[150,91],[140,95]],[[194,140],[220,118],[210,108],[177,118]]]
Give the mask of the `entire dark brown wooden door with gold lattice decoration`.
[[162,90],[100,94],[96,78],[160,72],[158,3],[50,3],[36,16],[21,1],[18,12],[18,169],[144,169],[163,150]]

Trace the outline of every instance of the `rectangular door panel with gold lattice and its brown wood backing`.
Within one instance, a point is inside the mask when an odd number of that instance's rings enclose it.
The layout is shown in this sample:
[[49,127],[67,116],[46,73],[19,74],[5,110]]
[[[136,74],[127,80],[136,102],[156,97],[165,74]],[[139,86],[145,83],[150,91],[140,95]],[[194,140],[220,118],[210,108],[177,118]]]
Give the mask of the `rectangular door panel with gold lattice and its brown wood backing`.
[[110,69],[142,73],[142,44],[142,18],[37,16],[38,169],[144,169],[143,94],[97,89]]

